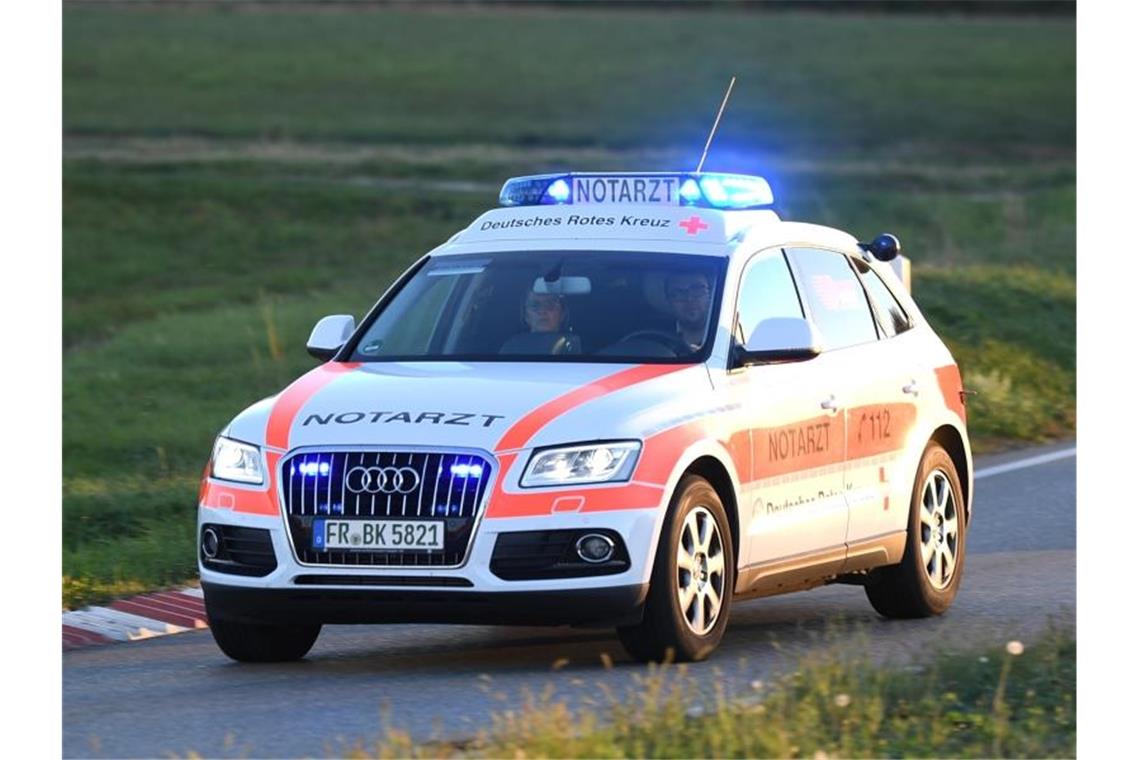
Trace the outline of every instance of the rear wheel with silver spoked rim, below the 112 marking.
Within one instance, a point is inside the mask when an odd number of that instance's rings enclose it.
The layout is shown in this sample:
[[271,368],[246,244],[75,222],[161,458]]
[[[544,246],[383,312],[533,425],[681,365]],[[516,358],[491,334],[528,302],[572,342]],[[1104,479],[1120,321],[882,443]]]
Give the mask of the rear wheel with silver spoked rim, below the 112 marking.
[[930,441],[911,491],[903,561],[874,571],[864,587],[871,606],[885,618],[899,619],[946,612],[966,572],[966,534],[958,469],[946,450]]

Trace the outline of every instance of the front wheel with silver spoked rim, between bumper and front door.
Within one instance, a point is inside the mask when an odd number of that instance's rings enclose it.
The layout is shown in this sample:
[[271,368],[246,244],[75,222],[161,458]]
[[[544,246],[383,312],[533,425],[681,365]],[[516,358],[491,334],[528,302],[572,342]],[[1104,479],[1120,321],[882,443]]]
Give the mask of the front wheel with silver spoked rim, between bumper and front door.
[[[732,531],[720,497],[705,479],[685,475],[661,528],[642,622],[619,628],[618,638],[641,662],[703,660],[724,636],[735,580]],[[683,594],[689,599],[684,608]]]

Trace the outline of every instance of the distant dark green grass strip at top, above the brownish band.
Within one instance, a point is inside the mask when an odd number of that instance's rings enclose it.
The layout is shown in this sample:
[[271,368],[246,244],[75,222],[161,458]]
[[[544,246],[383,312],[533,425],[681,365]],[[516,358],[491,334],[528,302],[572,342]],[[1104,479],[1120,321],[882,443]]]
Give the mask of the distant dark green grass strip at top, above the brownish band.
[[903,137],[930,154],[1067,155],[1075,67],[1072,19],[227,8],[64,18],[65,122],[87,134],[699,149],[735,74],[727,145],[897,155]]

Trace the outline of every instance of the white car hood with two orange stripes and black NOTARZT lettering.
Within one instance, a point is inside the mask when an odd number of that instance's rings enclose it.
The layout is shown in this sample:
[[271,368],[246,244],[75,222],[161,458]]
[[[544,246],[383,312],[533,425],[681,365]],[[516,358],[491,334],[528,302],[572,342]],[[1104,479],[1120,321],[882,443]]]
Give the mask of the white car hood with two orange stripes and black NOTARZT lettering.
[[703,365],[329,362],[250,407],[226,434],[280,450],[504,451],[638,438],[709,391]]

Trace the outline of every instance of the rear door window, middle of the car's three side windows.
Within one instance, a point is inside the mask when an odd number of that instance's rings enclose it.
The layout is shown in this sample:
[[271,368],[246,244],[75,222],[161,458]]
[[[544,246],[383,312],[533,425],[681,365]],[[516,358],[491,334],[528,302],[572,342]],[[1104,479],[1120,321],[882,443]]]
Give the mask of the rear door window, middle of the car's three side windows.
[[866,294],[846,255],[819,248],[791,248],[788,256],[824,350],[879,338]]

